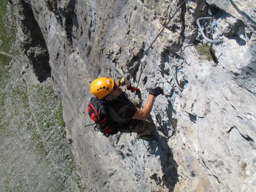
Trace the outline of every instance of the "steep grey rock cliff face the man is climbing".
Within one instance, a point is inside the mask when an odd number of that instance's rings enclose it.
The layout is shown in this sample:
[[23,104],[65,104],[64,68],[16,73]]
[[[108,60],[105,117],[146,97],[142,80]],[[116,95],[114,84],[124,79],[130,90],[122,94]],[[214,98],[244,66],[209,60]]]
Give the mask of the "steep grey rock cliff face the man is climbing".
[[[91,123],[86,112],[90,82],[122,78],[181,2],[11,1],[18,36],[38,78],[50,72],[54,79],[78,174],[88,189],[255,190],[253,0],[187,1],[149,49],[139,84],[143,104],[150,88],[164,88],[151,112],[157,125],[151,142],[130,134],[106,138],[93,126],[85,128]],[[202,38],[196,25],[201,17],[213,17],[201,22],[204,33],[223,43]]]

